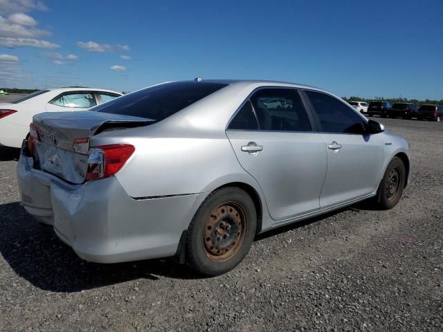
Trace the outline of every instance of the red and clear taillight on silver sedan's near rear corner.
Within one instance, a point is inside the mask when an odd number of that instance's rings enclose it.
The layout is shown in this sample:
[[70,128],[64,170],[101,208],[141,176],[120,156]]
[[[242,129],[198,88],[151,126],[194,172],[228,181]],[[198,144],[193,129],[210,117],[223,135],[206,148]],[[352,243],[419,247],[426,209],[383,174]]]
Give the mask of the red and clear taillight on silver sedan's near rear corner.
[[91,147],[88,153],[87,181],[113,176],[125,165],[134,151],[135,147],[127,144]]

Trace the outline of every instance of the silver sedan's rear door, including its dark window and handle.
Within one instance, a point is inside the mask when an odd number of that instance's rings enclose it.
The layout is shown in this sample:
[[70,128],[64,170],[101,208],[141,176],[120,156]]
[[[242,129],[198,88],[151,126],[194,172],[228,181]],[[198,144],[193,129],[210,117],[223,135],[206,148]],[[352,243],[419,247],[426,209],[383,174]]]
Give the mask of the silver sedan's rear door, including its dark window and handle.
[[[273,101],[273,102],[271,102]],[[242,167],[262,187],[275,220],[318,210],[325,143],[296,89],[259,89],[226,130]]]

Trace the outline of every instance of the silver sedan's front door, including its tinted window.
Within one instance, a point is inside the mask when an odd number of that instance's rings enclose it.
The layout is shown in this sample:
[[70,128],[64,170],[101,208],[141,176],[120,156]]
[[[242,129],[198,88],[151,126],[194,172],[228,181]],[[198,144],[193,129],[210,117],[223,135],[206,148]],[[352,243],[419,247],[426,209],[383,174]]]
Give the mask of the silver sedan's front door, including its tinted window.
[[327,147],[320,208],[358,199],[377,189],[383,163],[379,134],[363,134],[366,121],[332,95],[305,91]]

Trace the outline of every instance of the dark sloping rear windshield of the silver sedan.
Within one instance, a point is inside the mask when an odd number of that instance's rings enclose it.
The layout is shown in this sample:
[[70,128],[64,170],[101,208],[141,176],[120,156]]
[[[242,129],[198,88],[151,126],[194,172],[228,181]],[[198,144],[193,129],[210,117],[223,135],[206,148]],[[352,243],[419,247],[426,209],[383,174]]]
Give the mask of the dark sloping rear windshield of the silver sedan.
[[91,111],[160,121],[226,85],[207,82],[165,83],[123,95],[94,107]]

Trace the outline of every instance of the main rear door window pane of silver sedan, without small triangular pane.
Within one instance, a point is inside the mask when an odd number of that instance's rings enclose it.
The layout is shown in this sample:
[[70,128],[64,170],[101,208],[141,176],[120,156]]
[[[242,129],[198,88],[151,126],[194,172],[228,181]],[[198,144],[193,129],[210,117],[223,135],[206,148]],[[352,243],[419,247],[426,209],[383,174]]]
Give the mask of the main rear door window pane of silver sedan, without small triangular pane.
[[260,130],[311,131],[298,91],[261,89],[251,97]]

